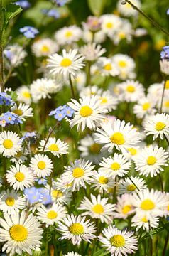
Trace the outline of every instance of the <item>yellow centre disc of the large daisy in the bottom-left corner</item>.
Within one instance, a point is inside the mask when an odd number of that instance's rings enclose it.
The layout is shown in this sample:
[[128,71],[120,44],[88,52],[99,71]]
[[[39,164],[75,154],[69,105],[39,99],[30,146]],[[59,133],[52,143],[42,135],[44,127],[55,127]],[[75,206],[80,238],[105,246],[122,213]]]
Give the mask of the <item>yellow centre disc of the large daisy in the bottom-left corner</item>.
[[28,230],[23,225],[16,224],[10,228],[9,234],[13,240],[21,242],[28,237]]

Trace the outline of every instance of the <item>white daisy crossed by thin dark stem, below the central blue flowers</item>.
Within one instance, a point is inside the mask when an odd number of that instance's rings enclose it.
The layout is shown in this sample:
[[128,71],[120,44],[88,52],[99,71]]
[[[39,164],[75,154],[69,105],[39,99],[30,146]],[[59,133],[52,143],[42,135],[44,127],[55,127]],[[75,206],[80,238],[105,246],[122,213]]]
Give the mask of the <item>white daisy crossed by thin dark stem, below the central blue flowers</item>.
[[49,138],[47,144],[45,145],[45,139],[40,141],[40,150],[43,150],[44,146],[45,152],[51,152],[54,156],[60,157],[62,154],[67,154],[68,144],[62,142],[60,139]]

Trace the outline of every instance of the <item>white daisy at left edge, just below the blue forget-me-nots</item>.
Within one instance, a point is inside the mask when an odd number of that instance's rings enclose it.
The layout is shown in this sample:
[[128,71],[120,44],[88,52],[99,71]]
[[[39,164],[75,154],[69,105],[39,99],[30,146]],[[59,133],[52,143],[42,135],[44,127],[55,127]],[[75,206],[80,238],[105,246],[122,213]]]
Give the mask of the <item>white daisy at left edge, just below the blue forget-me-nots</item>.
[[10,157],[21,150],[21,139],[15,132],[0,132],[0,154]]

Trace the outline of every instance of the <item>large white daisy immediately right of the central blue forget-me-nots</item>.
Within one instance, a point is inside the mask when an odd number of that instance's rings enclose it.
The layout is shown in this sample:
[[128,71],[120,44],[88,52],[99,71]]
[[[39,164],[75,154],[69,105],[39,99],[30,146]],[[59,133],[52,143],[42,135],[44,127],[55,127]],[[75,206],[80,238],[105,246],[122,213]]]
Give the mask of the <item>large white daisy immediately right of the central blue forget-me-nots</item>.
[[107,109],[100,105],[101,100],[97,96],[80,98],[80,103],[72,99],[68,102],[72,110],[75,110],[75,116],[70,120],[70,127],[77,124],[77,131],[84,131],[85,127],[96,129],[97,125],[104,119],[104,113]]

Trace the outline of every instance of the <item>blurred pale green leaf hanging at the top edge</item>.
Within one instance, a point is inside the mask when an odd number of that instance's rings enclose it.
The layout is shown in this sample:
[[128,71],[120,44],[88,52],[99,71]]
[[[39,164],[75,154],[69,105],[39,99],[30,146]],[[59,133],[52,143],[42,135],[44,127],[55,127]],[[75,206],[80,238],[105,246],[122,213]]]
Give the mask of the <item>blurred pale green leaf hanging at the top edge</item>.
[[99,16],[102,14],[104,7],[107,5],[105,0],[87,0],[89,9],[92,11],[92,14]]

